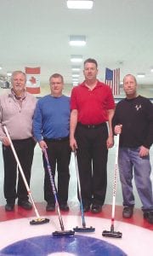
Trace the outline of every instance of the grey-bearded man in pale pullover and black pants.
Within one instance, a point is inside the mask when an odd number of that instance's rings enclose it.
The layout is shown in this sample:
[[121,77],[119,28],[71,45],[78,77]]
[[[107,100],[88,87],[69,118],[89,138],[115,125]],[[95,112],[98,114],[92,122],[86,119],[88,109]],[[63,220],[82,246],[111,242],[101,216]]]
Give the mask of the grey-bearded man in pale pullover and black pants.
[[31,164],[35,141],[32,136],[32,119],[36,107],[36,98],[26,92],[26,74],[15,71],[11,77],[12,89],[6,95],[0,96],[0,140],[3,143],[4,164],[4,196],[7,201],[5,210],[14,210],[15,199],[18,205],[26,210],[31,209],[28,201],[25,183],[19,173],[16,189],[17,164],[10,148],[8,137],[3,131],[3,125],[14,144],[14,149],[20,160],[26,181],[30,185]]

